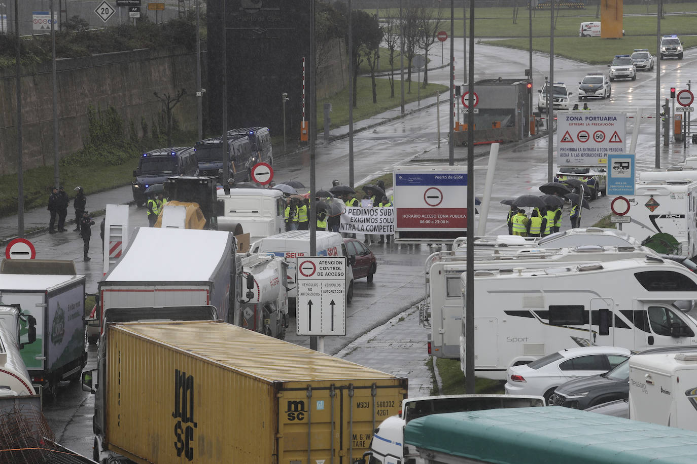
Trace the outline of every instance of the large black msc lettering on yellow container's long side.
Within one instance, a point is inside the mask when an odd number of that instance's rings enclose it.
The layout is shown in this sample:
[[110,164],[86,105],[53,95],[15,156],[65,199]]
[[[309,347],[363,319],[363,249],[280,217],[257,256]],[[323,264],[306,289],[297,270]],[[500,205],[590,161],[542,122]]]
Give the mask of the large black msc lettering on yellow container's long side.
[[174,449],[176,455],[184,454],[192,461],[194,458],[194,429],[198,424],[194,421],[194,376],[174,369]]

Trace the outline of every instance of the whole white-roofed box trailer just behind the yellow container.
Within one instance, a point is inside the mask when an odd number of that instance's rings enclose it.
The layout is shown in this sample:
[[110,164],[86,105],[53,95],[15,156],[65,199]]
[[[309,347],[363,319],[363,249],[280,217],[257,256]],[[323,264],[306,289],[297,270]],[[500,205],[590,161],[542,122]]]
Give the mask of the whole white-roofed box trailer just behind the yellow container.
[[213,305],[231,322],[239,275],[229,232],[139,227],[99,282],[100,307]]

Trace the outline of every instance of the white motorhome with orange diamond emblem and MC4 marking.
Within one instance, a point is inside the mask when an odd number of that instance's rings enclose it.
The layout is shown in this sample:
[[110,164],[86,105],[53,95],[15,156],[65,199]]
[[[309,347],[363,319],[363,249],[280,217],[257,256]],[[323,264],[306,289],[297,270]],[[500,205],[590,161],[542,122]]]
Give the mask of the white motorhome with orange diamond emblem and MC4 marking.
[[668,253],[697,255],[697,171],[640,173],[627,199],[631,222],[622,224],[624,232],[640,240],[671,234],[680,249]]

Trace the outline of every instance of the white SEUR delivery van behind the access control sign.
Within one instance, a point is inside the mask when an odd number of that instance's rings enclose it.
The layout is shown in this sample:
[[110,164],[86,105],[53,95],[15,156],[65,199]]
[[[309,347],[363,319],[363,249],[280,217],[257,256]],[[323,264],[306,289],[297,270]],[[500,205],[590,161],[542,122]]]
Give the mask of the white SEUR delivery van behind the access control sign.
[[[353,299],[353,271],[351,263],[348,262],[348,253],[342,234],[338,232],[316,231],[316,250],[317,256],[346,257],[346,303],[351,303]],[[296,301],[296,261],[300,256],[311,256],[309,254],[309,230],[291,230],[282,234],[264,237],[252,244],[250,253],[268,253],[280,256],[288,262],[288,298],[291,306],[295,306]]]

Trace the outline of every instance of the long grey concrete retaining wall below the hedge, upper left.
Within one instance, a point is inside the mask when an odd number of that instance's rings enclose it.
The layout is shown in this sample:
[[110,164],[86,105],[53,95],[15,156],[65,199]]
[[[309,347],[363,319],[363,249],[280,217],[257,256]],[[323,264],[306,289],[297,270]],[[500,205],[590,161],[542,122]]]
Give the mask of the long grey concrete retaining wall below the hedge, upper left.
[[[203,60],[205,64],[205,59]],[[124,120],[148,129],[162,103],[153,93],[185,88],[174,108],[181,129],[195,130],[196,55],[180,49],[124,51],[57,62],[59,155],[80,150],[88,136],[87,109],[114,106]],[[26,71],[25,71],[26,72]],[[0,71],[0,174],[17,171],[17,109],[14,69]],[[22,76],[22,152],[24,169],[53,163],[51,64]]]

